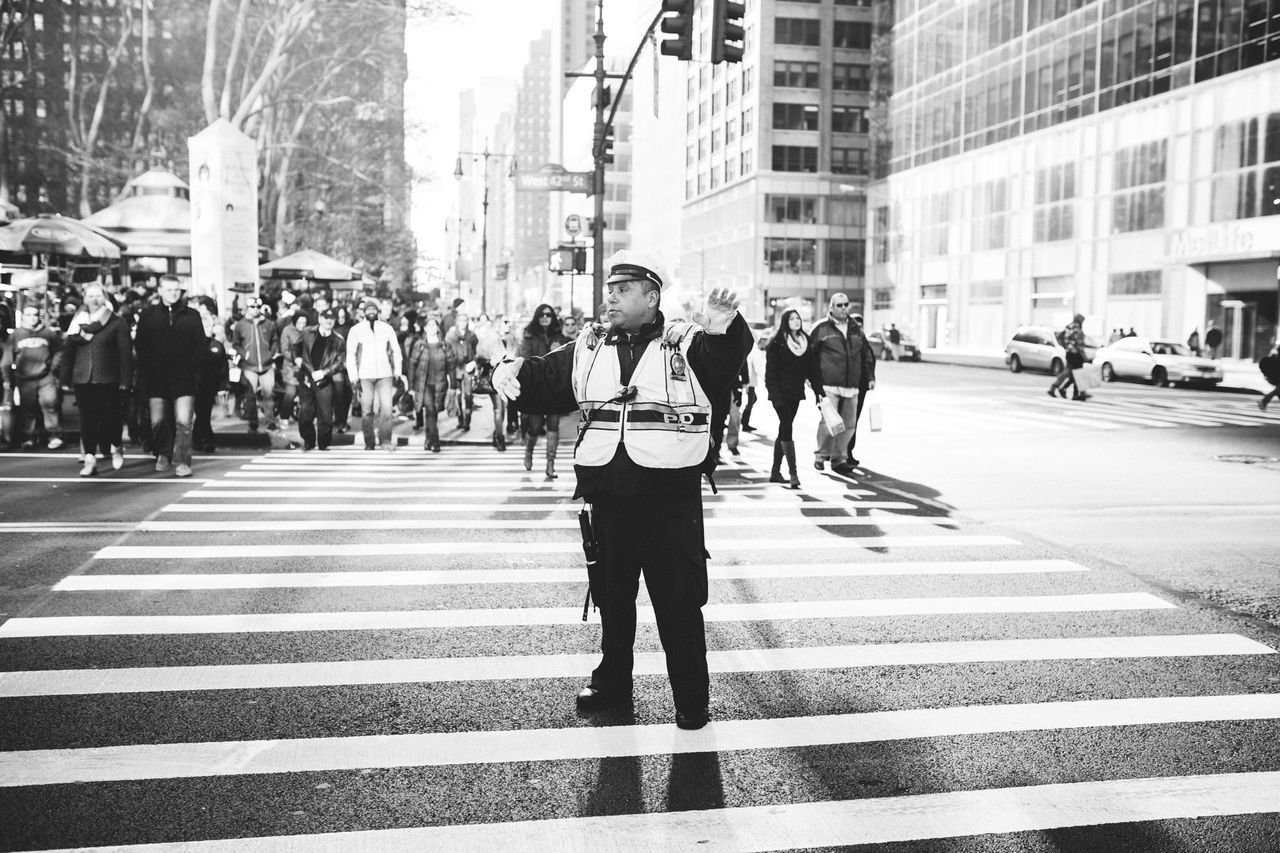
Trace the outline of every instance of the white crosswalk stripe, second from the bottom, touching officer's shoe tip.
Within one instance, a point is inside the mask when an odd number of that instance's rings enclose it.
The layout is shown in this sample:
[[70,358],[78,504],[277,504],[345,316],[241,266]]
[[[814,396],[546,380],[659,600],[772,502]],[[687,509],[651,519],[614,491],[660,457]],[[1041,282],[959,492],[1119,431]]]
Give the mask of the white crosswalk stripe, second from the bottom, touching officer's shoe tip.
[[[27,749],[0,753],[0,786],[573,761],[1276,717],[1280,694],[1251,693],[723,720],[698,731],[666,724]],[[1280,794],[1272,793],[1272,802],[1280,808]]]

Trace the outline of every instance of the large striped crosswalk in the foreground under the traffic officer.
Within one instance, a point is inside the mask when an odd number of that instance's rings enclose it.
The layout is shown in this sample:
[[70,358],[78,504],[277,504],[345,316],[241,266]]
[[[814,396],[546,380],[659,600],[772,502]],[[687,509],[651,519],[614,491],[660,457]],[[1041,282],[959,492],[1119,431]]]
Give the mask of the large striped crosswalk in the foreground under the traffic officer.
[[579,716],[598,625],[561,467],[271,452],[122,532],[0,622],[0,847],[1041,849],[1167,822],[1149,849],[1210,849],[1178,833],[1217,816],[1245,821],[1221,849],[1263,849],[1275,757],[1212,733],[1274,734],[1271,644],[833,476],[733,460],[708,493],[707,729],[671,721],[643,587],[635,704]]

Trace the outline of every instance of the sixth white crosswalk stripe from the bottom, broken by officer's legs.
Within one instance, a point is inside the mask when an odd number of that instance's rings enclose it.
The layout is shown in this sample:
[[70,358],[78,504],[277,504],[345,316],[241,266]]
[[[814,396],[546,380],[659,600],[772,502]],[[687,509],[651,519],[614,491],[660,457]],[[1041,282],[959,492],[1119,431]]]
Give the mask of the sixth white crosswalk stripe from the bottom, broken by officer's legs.
[[[719,551],[813,551],[826,548],[960,548],[1016,546],[1018,539],[998,535],[938,533],[927,537],[827,537],[822,539],[712,539],[707,547]],[[408,557],[457,553],[522,555],[577,553],[581,542],[334,542],[330,544],[218,544],[218,546],[106,546],[95,560],[252,560],[279,557]]]

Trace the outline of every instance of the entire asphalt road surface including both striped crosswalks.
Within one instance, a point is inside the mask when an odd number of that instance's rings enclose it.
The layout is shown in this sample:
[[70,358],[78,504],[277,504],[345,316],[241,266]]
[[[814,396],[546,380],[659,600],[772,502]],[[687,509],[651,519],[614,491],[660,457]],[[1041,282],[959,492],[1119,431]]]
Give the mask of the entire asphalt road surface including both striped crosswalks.
[[881,380],[854,482],[763,483],[762,401],[707,498],[700,733],[648,622],[575,711],[571,478],[516,452],[0,455],[0,849],[1280,849],[1277,466],[1216,460],[1275,423]]

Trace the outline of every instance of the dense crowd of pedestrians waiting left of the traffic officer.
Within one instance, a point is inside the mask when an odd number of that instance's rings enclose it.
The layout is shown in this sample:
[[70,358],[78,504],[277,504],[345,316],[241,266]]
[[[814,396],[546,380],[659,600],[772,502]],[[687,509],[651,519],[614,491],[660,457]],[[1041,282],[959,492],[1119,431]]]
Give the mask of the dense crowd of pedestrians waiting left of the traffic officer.
[[[265,428],[287,447],[296,424],[303,451],[329,450],[358,418],[366,450],[394,450],[394,424],[412,419],[422,447],[440,452],[440,418],[471,428],[488,401],[492,443],[525,442],[526,470],[547,437],[553,479],[559,418],[508,411],[493,389],[493,366],[520,352],[544,353],[573,334],[580,319],[539,306],[524,330],[512,318],[472,318],[463,300],[445,310],[370,297],[335,305],[328,292],[274,298],[244,295],[220,315],[209,296],[187,296],[174,275],[154,289],[81,287],[56,315],[28,297],[0,318],[0,444],[64,446],[64,409],[79,411],[82,476],[124,466],[125,443],[155,459],[156,471],[191,476],[192,452],[214,452],[214,409],[239,415],[250,433]],[[549,315],[549,316],[548,316]],[[13,320],[8,320],[8,318]],[[12,328],[15,327],[15,328]]]

